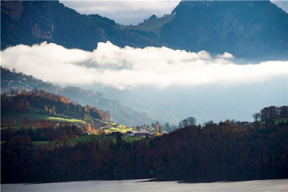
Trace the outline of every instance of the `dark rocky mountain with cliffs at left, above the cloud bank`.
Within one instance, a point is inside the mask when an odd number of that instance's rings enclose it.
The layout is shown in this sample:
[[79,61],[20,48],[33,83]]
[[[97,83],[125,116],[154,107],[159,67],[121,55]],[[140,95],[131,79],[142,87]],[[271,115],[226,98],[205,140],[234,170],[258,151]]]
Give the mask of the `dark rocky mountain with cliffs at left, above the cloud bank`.
[[1,49],[43,41],[93,50],[98,42],[145,47],[151,40],[99,15],[82,15],[59,1],[1,1]]

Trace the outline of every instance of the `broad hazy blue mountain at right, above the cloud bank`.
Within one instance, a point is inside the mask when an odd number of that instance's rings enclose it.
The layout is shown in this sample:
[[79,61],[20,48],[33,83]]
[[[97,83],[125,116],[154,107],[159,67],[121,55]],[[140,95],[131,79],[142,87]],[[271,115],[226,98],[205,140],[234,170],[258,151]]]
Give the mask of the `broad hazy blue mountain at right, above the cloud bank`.
[[160,38],[175,48],[287,59],[288,14],[270,1],[181,1]]

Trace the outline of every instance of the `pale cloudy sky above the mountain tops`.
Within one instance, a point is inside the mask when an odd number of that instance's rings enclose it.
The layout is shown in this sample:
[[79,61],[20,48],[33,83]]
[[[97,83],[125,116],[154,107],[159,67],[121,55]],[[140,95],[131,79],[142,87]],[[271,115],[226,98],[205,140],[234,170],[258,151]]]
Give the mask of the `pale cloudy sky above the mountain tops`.
[[[135,25],[152,14],[161,17],[171,13],[180,0],[61,0],[61,2],[79,13],[97,13],[120,24]],[[288,11],[288,0],[273,0],[272,2],[286,12]]]

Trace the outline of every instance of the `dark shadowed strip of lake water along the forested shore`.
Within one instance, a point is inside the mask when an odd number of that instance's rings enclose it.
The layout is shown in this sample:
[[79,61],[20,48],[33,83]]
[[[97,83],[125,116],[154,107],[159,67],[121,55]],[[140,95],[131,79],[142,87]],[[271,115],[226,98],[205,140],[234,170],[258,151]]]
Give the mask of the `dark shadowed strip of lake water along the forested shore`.
[[176,181],[179,183],[212,183],[212,182],[238,182],[252,180],[275,180],[287,179],[287,172],[201,172],[201,173],[182,173],[182,174],[133,174],[133,175],[75,175],[75,176],[51,176],[51,177],[27,177],[15,178],[1,177],[1,184],[5,183],[56,183],[72,181],[114,181],[114,180],[143,180],[145,182],[164,182]]

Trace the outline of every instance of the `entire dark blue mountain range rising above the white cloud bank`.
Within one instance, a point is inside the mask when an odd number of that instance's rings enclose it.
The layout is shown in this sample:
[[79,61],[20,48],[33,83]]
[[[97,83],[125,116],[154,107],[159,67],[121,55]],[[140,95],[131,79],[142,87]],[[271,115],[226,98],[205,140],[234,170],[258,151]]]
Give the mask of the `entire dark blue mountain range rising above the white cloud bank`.
[[181,1],[172,14],[135,26],[80,14],[59,1],[1,1],[1,50],[48,41],[91,51],[110,41],[280,60],[288,58],[287,31],[288,13],[270,1]]

